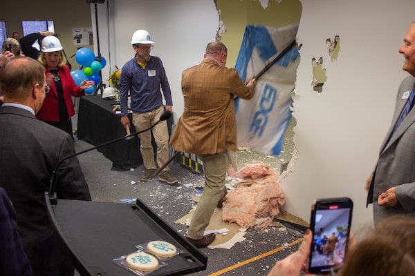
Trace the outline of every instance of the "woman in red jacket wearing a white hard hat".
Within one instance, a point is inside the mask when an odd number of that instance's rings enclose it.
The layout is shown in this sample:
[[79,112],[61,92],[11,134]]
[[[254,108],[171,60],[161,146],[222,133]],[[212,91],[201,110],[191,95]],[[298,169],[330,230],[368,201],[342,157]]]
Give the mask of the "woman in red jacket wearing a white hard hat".
[[39,61],[46,68],[50,91],[46,94],[36,117],[68,132],[73,137],[71,117],[75,115],[75,109],[72,96],[84,96],[84,90],[92,87],[94,81],[84,80],[80,86],[77,86],[66,65],[67,60],[62,49],[62,44],[56,37],[48,36],[42,40],[42,54],[39,56]]

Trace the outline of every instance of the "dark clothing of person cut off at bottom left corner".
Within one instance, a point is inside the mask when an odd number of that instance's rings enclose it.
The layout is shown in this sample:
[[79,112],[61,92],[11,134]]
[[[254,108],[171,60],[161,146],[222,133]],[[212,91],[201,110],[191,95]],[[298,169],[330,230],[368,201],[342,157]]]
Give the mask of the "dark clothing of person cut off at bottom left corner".
[[0,245],[0,275],[32,275],[17,233],[16,213],[3,188],[0,188]]

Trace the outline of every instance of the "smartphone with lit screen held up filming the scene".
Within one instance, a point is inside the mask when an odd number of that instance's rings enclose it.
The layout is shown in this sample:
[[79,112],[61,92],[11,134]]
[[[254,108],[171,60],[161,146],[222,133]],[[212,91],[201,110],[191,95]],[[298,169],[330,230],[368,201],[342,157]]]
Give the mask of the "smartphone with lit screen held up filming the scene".
[[308,273],[329,273],[342,266],[349,243],[353,201],[349,197],[316,199],[311,206],[313,231]]

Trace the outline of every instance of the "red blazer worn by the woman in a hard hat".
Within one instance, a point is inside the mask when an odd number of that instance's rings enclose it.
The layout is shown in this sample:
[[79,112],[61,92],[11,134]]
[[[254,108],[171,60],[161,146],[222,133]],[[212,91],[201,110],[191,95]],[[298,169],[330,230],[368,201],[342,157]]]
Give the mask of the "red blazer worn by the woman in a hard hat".
[[[66,103],[66,110],[68,110],[69,119],[75,115],[75,109],[73,108],[72,96],[82,97],[85,92],[80,90],[79,86],[75,84],[69,72],[68,66],[59,66],[59,75],[62,81],[62,88],[64,90],[64,98]],[[46,75],[49,73],[48,66],[45,70]],[[59,102],[57,99],[57,90],[55,81],[50,83],[50,91],[46,94],[45,100],[36,115],[37,119],[42,121],[59,121]]]

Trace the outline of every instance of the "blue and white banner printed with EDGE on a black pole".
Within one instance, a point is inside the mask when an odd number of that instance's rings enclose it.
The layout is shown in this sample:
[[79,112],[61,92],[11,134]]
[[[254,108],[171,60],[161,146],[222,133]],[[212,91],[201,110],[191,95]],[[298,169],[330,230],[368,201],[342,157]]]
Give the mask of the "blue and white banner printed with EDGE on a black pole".
[[[298,24],[282,28],[247,26],[235,68],[243,80],[255,77],[295,40]],[[237,99],[237,145],[265,155],[281,155],[291,119],[291,92],[299,65],[298,48],[288,50],[257,79],[255,95]]]

